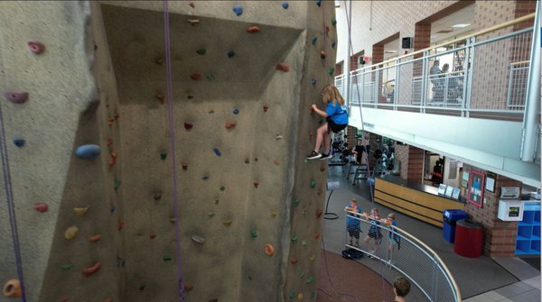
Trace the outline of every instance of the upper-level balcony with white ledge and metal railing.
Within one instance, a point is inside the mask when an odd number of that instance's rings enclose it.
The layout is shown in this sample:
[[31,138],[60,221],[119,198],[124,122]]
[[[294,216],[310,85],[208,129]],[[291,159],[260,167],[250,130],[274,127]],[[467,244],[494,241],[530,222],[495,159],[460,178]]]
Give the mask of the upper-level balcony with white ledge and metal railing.
[[336,77],[350,125],[539,188],[534,15]]

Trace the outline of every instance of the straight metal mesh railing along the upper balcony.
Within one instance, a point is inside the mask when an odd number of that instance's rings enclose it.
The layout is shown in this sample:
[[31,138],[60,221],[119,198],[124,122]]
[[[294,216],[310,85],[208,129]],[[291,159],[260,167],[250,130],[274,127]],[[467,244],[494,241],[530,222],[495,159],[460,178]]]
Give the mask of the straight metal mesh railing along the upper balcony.
[[[514,31],[513,26],[533,17],[353,70],[349,89],[342,85],[344,75],[335,78],[335,84],[346,93],[349,106],[521,118],[533,29]],[[435,64],[446,60],[449,63]]]

